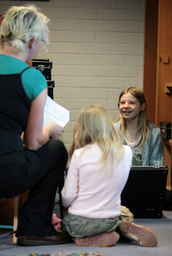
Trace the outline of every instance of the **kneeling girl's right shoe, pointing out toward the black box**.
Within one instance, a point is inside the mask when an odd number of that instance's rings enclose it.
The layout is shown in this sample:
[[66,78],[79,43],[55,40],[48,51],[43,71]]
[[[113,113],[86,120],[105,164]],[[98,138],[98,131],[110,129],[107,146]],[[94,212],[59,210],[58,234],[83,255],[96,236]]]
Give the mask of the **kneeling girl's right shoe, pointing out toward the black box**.
[[124,220],[120,224],[120,231],[122,236],[129,238],[130,241],[134,241],[137,244],[148,247],[157,246],[157,237],[148,227],[135,225],[133,222]]

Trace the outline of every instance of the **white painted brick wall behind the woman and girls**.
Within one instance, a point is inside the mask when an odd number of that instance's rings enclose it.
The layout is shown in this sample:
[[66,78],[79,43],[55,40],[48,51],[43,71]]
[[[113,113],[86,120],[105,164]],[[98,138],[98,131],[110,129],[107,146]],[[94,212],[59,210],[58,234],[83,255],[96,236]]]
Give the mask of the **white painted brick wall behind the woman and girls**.
[[[0,1],[0,14],[29,1]],[[145,0],[34,2],[50,18],[50,46],[35,59],[52,61],[54,98],[70,110],[61,140],[69,148],[79,110],[103,105],[115,120],[118,97],[143,88]]]

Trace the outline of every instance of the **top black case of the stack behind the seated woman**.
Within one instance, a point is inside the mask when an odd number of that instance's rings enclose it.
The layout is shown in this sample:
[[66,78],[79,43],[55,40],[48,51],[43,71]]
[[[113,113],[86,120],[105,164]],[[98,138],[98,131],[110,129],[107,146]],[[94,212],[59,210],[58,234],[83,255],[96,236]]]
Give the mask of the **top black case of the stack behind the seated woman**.
[[39,69],[46,80],[51,80],[52,61],[47,61],[47,59],[35,59],[32,60],[32,67],[34,67],[34,69]]

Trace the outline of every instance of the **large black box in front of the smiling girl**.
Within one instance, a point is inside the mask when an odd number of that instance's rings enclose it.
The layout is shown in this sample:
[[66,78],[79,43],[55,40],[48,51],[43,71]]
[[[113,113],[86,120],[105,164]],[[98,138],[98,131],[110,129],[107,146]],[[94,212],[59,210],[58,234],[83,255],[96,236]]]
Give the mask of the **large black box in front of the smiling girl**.
[[121,194],[121,205],[134,219],[163,217],[168,166],[132,166]]

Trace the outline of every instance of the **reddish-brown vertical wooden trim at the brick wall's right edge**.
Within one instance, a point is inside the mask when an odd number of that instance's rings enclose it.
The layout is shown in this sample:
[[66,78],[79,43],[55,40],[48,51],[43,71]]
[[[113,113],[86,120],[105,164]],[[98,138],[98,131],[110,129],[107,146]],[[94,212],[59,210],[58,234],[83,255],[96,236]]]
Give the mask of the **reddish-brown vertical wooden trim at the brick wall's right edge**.
[[147,119],[152,123],[155,123],[156,112],[158,4],[158,0],[145,2],[143,87],[147,103]]

